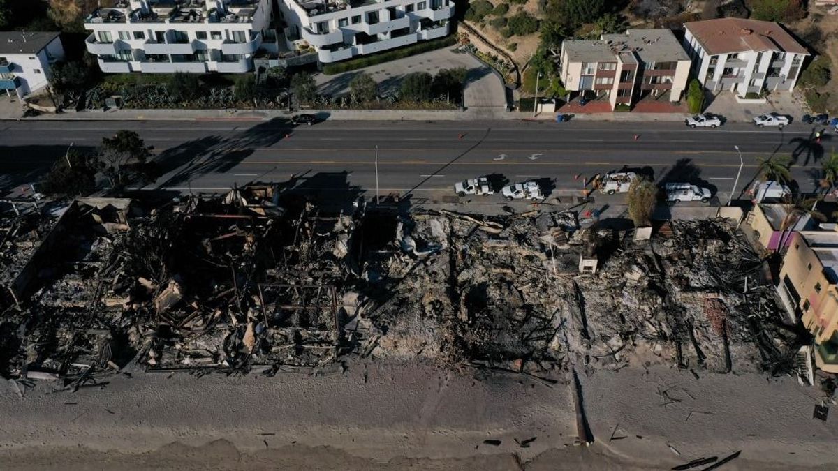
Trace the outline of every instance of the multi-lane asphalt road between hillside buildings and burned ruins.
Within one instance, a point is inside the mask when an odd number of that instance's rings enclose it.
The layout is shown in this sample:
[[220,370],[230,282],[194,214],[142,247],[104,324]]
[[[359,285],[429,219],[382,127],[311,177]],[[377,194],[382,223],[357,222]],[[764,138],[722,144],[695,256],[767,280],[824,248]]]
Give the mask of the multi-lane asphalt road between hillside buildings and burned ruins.
[[[154,188],[224,190],[234,183],[284,181],[310,189],[375,191],[379,147],[382,193],[422,195],[487,173],[511,180],[555,179],[555,194],[581,189],[590,177],[623,165],[655,179],[692,179],[727,197],[739,167],[740,188],[757,171],[755,158],[800,153],[793,167],[802,191],[814,189],[820,163],[832,149],[810,141],[811,129],[784,131],[730,124],[687,129],[661,122],[322,122],[289,127],[273,122],[2,122],[0,187],[37,179],[66,146],[93,147],[101,137],[131,129],[155,148],[165,175]],[[300,178],[302,176],[302,178]],[[428,195],[430,193],[424,193]]]

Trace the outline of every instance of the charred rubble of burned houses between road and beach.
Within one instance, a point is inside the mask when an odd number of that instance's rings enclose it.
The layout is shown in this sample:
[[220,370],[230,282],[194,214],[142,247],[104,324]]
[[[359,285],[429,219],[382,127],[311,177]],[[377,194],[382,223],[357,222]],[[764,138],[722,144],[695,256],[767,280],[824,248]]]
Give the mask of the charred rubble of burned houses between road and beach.
[[571,211],[327,211],[272,185],[0,220],[0,374],[313,369],[344,355],[533,375],[793,366],[765,264],[727,220],[649,240]]

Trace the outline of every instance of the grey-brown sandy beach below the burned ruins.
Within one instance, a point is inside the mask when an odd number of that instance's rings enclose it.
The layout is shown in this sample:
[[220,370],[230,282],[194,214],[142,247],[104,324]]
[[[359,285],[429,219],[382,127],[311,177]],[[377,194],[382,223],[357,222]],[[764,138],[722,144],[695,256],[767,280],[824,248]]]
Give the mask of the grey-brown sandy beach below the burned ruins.
[[75,393],[42,384],[23,399],[9,385],[0,468],[656,469],[737,450],[726,468],[838,465],[835,418],[812,419],[816,391],[791,378],[583,375],[595,437],[586,448],[566,379],[347,366],[273,378],[137,373]]

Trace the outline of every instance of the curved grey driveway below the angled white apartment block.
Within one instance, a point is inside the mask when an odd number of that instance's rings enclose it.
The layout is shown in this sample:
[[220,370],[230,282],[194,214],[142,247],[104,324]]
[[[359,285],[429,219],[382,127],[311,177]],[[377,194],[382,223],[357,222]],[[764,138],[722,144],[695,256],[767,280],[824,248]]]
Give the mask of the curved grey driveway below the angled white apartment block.
[[463,96],[467,110],[471,111],[469,114],[475,118],[493,119],[495,113],[506,111],[506,88],[500,77],[473,56],[455,48],[437,49],[338,75],[318,74],[315,80],[320,93],[339,96],[349,93],[349,82],[355,75],[366,72],[378,82],[379,93],[389,95],[399,90],[401,80],[407,74],[427,72],[435,75],[441,69],[458,67],[468,69]]

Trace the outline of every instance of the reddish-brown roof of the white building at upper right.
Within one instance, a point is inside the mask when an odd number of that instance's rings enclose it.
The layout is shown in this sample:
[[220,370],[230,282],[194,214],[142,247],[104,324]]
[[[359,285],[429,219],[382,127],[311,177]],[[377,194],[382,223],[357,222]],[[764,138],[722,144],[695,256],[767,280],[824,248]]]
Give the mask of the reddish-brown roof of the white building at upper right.
[[809,54],[778,23],[742,18],[719,18],[685,23],[707,54],[730,54],[747,50],[775,50]]

